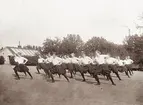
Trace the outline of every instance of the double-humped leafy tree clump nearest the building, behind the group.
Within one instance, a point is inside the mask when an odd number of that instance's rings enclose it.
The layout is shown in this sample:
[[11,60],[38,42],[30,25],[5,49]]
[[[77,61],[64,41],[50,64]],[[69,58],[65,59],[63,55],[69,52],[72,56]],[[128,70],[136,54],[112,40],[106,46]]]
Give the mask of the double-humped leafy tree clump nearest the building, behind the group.
[[59,38],[50,39],[47,38],[43,43],[43,53],[53,53],[56,54],[71,54],[78,53],[81,51],[81,46],[83,45],[83,41],[79,35],[69,34],[63,38],[63,40]]

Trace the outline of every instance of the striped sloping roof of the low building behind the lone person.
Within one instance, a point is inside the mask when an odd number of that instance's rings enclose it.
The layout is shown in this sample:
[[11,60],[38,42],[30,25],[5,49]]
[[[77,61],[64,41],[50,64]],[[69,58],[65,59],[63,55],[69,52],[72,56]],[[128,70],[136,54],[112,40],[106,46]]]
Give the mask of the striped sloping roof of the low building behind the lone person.
[[39,53],[38,50],[17,48],[17,47],[6,47],[14,55],[21,53],[23,56],[35,56],[36,53]]

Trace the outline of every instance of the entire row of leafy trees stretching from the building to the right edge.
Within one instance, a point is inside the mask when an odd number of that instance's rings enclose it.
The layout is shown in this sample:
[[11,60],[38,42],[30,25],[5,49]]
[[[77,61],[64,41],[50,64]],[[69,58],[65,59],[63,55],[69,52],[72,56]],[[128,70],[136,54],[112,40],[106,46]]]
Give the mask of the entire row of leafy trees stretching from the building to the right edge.
[[126,36],[122,45],[96,36],[83,42],[79,35],[68,34],[62,39],[59,37],[47,38],[42,47],[26,45],[23,48],[39,50],[43,54],[70,55],[75,53],[76,56],[80,56],[82,51],[88,56],[94,56],[98,50],[101,54],[110,54],[112,57],[119,56],[121,59],[130,56],[135,63],[143,65],[143,35],[137,34]]

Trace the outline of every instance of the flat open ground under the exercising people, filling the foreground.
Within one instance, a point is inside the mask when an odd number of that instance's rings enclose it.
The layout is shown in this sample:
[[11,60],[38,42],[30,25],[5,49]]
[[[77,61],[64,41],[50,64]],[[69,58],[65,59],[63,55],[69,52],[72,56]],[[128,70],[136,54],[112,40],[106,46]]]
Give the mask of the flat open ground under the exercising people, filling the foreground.
[[29,67],[34,77],[14,79],[9,65],[0,65],[0,105],[143,105],[143,72],[135,72],[131,78],[121,74],[122,81],[113,75],[116,86],[101,77],[97,86],[94,78],[86,76],[81,82],[77,74],[70,83],[64,77],[55,75],[56,82],[46,81],[42,74],[36,74],[35,67]]

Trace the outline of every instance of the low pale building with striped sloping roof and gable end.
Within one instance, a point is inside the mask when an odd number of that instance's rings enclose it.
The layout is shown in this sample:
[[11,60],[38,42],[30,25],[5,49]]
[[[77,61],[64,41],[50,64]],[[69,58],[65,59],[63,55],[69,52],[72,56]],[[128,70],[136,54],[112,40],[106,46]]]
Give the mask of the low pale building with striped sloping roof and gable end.
[[38,50],[24,49],[21,47],[5,47],[2,50],[0,50],[0,56],[4,56],[5,64],[10,64],[9,56],[14,56],[19,52],[23,56],[35,56],[36,53],[39,53]]

